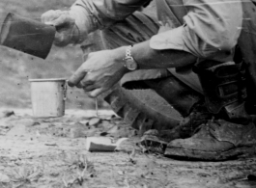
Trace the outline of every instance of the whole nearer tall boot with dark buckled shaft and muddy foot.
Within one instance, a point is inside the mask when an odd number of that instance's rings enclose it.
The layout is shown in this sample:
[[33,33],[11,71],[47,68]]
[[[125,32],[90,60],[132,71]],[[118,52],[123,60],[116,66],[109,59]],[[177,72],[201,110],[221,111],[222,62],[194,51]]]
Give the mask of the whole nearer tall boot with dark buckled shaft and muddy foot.
[[197,68],[213,120],[203,123],[192,137],[170,142],[166,156],[226,160],[254,152],[256,128],[244,108],[244,69],[234,63]]

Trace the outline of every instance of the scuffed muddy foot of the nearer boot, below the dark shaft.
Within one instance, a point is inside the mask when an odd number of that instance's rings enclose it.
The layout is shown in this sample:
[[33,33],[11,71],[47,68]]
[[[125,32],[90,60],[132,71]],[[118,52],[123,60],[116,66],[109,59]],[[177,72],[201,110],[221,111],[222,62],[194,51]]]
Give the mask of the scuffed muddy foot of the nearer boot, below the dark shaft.
[[188,139],[170,142],[165,156],[199,160],[226,160],[254,151],[256,128],[228,121],[209,122]]

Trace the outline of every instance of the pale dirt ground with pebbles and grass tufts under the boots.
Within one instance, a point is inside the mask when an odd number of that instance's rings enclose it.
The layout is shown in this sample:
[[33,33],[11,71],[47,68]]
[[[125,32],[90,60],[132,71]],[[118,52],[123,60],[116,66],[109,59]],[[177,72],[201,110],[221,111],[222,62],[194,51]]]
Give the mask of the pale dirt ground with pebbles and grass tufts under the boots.
[[[135,147],[139,140],[112,111],[67,110],[35,119],[30,109],[1,109],[1,188],[256,187],[256,157],[226,162],[179,161]],[[125,138],[119,151],[89,152],[86,137]]]

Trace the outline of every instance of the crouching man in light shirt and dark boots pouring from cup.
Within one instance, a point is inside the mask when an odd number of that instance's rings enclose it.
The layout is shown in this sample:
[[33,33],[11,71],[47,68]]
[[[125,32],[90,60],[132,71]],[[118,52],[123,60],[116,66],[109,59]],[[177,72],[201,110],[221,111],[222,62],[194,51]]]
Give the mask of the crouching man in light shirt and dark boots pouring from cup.
[[70,11],[43,13],[59,46],[101,30],[106,50],[90,53],[69,85],[96,97],[124,75],[143,81],[185,117],[170,131],[166,156],[222,160],[253,150],[246,104],[256,52],[246,31],[256,28],[255,18],[243,19],[256,17],[253,1],[157,0],[157,17],[137,12],[149,2],[77,0]]

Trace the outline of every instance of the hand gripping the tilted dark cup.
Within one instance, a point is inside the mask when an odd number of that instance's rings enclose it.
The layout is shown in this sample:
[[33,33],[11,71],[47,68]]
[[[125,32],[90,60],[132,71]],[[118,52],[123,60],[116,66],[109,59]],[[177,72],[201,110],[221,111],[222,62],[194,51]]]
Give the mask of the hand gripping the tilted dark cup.
[[75,42],[79,37],[78,28],[75,25],[75,20],[67,11],[48,11],[41,16],[43,23],[56,27],[56,35],[54,44],[57,46],[65,46]]

